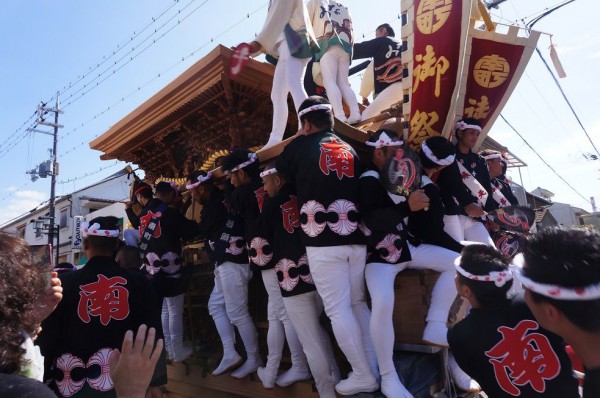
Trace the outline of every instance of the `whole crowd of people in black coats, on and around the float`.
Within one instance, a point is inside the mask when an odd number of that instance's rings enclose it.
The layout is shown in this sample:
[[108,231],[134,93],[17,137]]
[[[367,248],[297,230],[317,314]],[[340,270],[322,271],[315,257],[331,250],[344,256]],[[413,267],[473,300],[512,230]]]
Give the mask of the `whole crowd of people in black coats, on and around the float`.
[[[600,396],[600,234],[547,229],[530,236],[514,261],[499,252],[484,216],[519,203],[503,154],[473,152],[482,132],[477,119],[456,124],[456,145],[423,141],[414,161],[402,159],[408,149],[397,131],[380,129],[359,159],[333,131],[334,115],[369,119],[402,97],[402,45],[389,25],[355,43],[342,4],[272,0],[250,45],[277,58],[266,146],[283,137],[288,93],[299,131],[271,164],[234,149],[220,159],[224,181],[190,173],[185,190],[202,205],[199,221],[182,213],[180,187],[137,181],[141,212],[127,205],[132,228],[121,231],[114,217],[89,220],[82,225],[87,264],[46,279],[23,241],[2,236],[2,396],[162,396],[167,361],[194,351],[183,327],[193,267],[182,243],[192,239],[205,242],[214,267],[208,312],[222,343],[214,376],[256,373],[267,389],[312,378],[322,398],[379,389],[388,398],[412,397],[393,361],[392,314],[402,306],[394,303],[394,280],[405,269],[429,269],[440,275],[423,344],[449,349],[456,387],[490,397],[577,397],[566,341],[585,366],[583,396]],[[329,100],[304,91],[313,57]],[[352,58],[373,59],[376,96],[362,115],[348,85]],[[394,160],[422,176],[402,194],[388,189]],[[268,295],[266,362],[248,308],[248,283],[258,273]],[[472,309],[449,329],[457,294]],[[323,311],[351,367],[345,378]],[[281,372],[286,341],[291,367]]]

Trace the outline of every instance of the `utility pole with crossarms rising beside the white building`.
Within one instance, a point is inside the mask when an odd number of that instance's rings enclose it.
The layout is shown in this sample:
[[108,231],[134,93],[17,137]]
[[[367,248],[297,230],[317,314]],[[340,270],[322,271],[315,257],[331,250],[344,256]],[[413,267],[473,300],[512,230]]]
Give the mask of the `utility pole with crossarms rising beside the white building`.
[[[56,103],[54,108],[50,108],[48,107],[45,103],[41,102],[38,105],[38,117],[35,121],[35,127],[28,129],[28,131],[34,132],[34,133],[41,133],[41,134],[46,134],[46,135],[52,135],[52,153],[50,154],[50,160],[48,162],[43,162],[40,165],[38,165],[35,169],[28,171],[28,174],[31,174],[31,180],[35,181],[37,180],[38,177],[42,177],[45,178],[48,175],[50,175],[51,179],[50,179],[50,201],[48,204],[48,219],[50,222],[50,226],[51,228],[48,230],[48,244],[53,244],[54,243],[54,231],[56,230],[56,233],[59,234],[60,233],[60,229],[56,228],[56,223],[54,222],[55,220],[55,216],[56,216],[56,211],[54,208],[54,204],[56,201],[56,176],[58,175],[58,163],[56,162],[57,156],[56,156],[56,148],[58,146],[58,129],[64,127],[61,124],[58,124],[58,114],[59,113],[63,113],[63,111],[60,110],[60,99],[59,99],[59,94],[56,93]],[[45,116],[48,114],[48,112],[52,112],[54,113],[54,122],[47,122]],[[49,132],[49,131],[44,131],[44,130],[38,130],[36,127],[39,125],[43,125],[43,126],[49,126],[53,128],[53,132]],[[44,165],[50,164],[50,167],[43,167]],[[57,239],[58,242],[58,239]],[[56,257],[58,259],[58,243],[56,245]]]

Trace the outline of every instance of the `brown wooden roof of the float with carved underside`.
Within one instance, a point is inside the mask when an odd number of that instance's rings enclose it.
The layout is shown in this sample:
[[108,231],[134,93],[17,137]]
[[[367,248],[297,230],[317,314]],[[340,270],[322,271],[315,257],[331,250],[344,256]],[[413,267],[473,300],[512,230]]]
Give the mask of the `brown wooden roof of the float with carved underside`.
[[[220,149],[264,144],[273,117],[274,68],[251,59],[232,81],[232,54],[218,45],[90,147],[104,152],[103,160],[136,163],[156,178],[185,176]],[[296,126],[290,112],[286,135]]]

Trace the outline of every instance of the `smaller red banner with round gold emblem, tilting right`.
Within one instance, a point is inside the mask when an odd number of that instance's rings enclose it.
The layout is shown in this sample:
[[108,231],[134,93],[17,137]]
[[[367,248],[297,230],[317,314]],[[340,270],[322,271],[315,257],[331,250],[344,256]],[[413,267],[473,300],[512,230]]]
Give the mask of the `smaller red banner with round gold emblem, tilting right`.
[[[516,26],[503,27],[506,33],[469,28],[467,78],[461,88],[457,118],[473,117],[481,121],[478,148],[514,91],[531,58],[540,33],[519,36]],[[463,94],[464,93],[464,94]]]

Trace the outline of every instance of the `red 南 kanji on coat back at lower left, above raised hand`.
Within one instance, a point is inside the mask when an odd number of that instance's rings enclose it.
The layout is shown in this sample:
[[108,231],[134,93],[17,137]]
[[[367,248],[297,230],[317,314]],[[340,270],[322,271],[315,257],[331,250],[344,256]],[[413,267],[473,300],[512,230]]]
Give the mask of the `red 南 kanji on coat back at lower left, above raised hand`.
[[107,278],[99,274],[98,282],[80,286],[79,306],[77,315],[85,322],[90,322],[90,317],[99,316],[100,323],[108,325],[111,318],[117,321],[129,315],[129,291],[123,285],[127,279],[114,276]]

